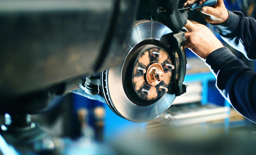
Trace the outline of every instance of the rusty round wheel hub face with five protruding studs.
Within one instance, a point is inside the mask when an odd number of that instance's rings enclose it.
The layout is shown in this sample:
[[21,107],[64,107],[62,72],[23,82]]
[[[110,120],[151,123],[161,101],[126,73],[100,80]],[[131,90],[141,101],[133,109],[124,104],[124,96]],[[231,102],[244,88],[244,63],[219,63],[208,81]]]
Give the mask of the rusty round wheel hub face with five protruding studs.
[[166,67],[172,65],[170,56],[155,45],[144,45],[138,50],[132,73],[134,91],[144,100],[160,98],[168,91],[171,81],[172,68]]

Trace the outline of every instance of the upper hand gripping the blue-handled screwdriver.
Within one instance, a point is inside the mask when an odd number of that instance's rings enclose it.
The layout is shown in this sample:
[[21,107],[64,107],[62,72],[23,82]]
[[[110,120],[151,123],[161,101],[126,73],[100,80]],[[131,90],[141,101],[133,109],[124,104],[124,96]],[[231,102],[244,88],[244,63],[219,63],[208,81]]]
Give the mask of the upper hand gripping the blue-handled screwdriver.
[[217,3],[213,7],[202,7],[198,11],[208,23],[212,24],[221,24],[229,16],[223,0],[217,0]]

